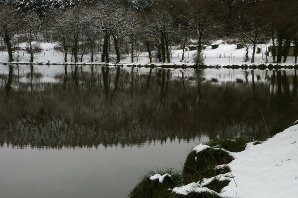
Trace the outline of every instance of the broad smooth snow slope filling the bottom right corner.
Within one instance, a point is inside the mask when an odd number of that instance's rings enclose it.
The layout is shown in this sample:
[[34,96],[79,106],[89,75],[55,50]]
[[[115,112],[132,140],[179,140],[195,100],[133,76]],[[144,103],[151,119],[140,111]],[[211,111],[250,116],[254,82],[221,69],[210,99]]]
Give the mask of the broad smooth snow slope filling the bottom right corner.
[[[235,182],[222,191],[227,198],[297,198],[298,126],[259,145],[233,153],[229,167]],[[236,186],[236,184],[237,186]]]

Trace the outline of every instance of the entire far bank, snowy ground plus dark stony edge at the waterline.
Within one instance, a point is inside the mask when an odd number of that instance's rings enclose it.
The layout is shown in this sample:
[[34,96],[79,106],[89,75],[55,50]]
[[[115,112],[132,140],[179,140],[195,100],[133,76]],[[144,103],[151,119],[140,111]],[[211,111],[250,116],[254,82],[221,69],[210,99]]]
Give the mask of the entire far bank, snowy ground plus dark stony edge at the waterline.
[[[57,65],[57,64],[78,64],[78,65],[105,65],[105,66],[145,66],[145,67],[173,67],[173,68],[190,68],[198,67],[195,64],[194,56],[196,50],[186,50],[184,52],[184,60],[181,60],[182,49],[179,47],[173,47],[171,49],[171,59],[170,63],[159,63],[156,55],[152,54],[152,62],[149,61],[149,53],[142,52],[135,55],[134,61],[131,60],[131,54],[122,54],[121,61],[116,63],[116,57],[113,51],[110,51],[110,62],[101,62],[101,52],[97,51],[94,55],[94,61],[90,62],[90,52],[84,53],[83,55],[79,53],[79,62],[74,63],[72,59],[72,54],[68,54],[67,62],[64,60],[64,52],[57,51],[58,43],[34,43],[38,45],[41,52],[35,53],[33,63],[30,63],[30,54],[26,51],[20,50],[15,51],[13,56],[14,60],[11,64],[35,64],[35,65]],[[26,43],[20,44],[20,49],[25,49]],[[250,61],[244,61],[244,56],[246,49],[237,49],[236,45],[231,44],[221,44],[217,49],[212,49],[211,46],[207,46],[206,49],[202,51],[203,63],[199,67],[203,68],[214,68],[214,67],[224,67],[224,68],[269,68],[269,69],[279,69],[279,68],[294,68],[298,67],[295,63],[294,57],[288,57],[286,62],[279,64],[274,63],[272,56],[267,56],[266,58],[266,47],[265,45],[257,45],[260,49],[259,53],[255,54],[255,61],[251,63]],[[251,56],[252,49],[249,49],[249,56]],[[267,60],[266,60],[267,59]],[[16,61],[18,60],[18,61]],[[7,51],[0,51],[0,64],[8,64],[8,53]]]

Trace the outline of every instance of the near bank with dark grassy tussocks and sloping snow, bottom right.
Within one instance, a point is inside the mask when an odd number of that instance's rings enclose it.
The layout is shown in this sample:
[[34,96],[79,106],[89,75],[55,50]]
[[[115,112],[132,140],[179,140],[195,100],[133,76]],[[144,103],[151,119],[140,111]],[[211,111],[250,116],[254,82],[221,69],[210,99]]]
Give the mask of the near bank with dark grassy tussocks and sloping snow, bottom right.
[[[144,177],[131,192],[131,198],[146,197],[148,188],[142,190],[145,196],[138,191],[138,186],[142,186],[144,182],[149,183],[147,186],[154,183],[158,187],[159,192],[152,190],[157,197],[297,197],[298,125],[264,142],[247,143],[246,148],[240,152],[230,152],[226,149],[241,149],[241,139],[217,143],[219,145],[214,144],[212,147],[202,144],[195,147],[188,155],[182,173],[169,171],[167,175],[167,172],[163,171],[163,175],[155,173],[148,175],[149,179]],[[177,174],[180,174],[180,178]],[[167,191],[160,186],[168,188]]]

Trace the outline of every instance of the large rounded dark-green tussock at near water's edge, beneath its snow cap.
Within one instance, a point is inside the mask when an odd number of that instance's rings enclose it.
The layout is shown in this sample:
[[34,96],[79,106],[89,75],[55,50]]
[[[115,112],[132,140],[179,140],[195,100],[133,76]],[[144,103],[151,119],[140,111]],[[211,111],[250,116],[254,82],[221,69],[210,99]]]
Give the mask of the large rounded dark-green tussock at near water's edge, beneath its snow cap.
[[228,164],[234,158],[220,148],[207,148],[200,152],[192,151],[188,154],[184,166],[184,182],[197,182],[203,178],[210,178],[229,172],[229,168],[215,169],[215,166]]

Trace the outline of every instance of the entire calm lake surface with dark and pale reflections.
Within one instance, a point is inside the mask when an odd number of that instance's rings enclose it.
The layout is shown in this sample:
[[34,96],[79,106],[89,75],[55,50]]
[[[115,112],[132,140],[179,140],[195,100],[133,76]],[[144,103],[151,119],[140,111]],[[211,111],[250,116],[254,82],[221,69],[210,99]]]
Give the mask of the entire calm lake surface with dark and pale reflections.
[[294,69],[0,65],[1,198],[125,198],[210,139],[298,119]]

